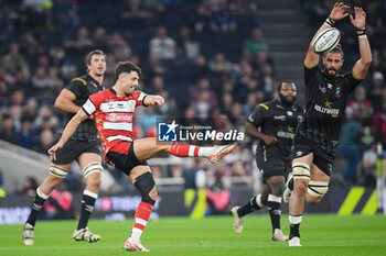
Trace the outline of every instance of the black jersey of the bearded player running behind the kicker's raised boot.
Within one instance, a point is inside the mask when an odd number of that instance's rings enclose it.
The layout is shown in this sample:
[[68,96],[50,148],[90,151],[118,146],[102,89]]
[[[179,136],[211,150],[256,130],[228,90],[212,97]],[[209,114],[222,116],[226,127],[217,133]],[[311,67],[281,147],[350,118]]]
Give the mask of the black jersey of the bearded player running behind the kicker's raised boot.
[[260,127],[261,133],[275,136],[278,142],[271,146],[266,146],[264,141],[259,140],[257,149],[274,149],[282,157],[288,157],[297,126],[302,116],[303,109],[297,103],[287,107],[280,100],[272,100],[259,104],[249,115],[248,122],[256,129]]

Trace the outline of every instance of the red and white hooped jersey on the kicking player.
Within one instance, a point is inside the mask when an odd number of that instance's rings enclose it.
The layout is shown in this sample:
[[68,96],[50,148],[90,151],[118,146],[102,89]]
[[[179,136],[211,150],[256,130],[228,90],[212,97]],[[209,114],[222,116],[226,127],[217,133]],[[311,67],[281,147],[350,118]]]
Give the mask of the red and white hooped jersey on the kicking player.
[[117,97],[114,89],[92,94],[82,107],[87,115],[94,114],[95,126],[105,155],[119,142],[132,142],[132,120],[138,105],[143,104],[147,94],[135,91]]

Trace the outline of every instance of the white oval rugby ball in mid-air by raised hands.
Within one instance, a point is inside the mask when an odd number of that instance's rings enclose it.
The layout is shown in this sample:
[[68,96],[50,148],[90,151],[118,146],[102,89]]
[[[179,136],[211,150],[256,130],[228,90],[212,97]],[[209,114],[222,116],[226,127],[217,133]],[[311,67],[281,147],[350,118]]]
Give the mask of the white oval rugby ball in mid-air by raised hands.
[[341,33],[335,27],[330,27],[322,31],[312,42],[313,52],[322,54],[333,49],[341,40]]

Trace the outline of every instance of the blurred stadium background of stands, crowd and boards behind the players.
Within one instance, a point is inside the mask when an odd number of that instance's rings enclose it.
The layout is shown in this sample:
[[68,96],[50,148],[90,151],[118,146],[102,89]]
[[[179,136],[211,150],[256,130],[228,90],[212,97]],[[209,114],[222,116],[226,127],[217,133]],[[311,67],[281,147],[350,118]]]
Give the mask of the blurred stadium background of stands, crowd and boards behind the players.
[[[277,97],[282,80],[294,81],[298,99],[304,102],[302,60],[312,33],[333,2],[0,1],[2,223],[25,220],[34,190],[47,172],[46,149],[64,125],[63,113],[53,108],[54,99],[72,78],[85,74],[84,57],[90,49],[108,55],[106,86],[114,84],[117,62],[129,59],[142,67],[141,88],[167,99],[160,111],[138,110],[137,137],[154,136],[156,120],[172,116],[221,118],[221,125],[243,130],[246,116],[258,103]],[[362,89],[349,101],[342,134],[345,148],[337,151],[329,193],[335,196],[308,211],[374,214],[376,171],[365,169],[362,158],[374,156],[372,145],[378,141],[386,148],[386,1],[347,2],[367,12],[373,65]],[[343,69],[349,70],[360,57],[355,31],[349,19],[337,27],[345,52]],[[355,154],[345,155],[347,148]],[[346,174],[354,170],[354,176],[344,176],[347,164],[353,163]],[[250,144],[242,145],[216,166],[167,156],[151,164],[162,199],[161,215],[226,213],[232,204],[243,203],[259,189]],[[206,189],[230,197],[222,211],[207,208],[206,190],[184,191],[183,177],[196,169],[204,169]],[[74,197],[76,210],[83,191],[76,166],[61,189]],[[99,200],[95,216],[122,219],[133,214],[126,204],[138,198],[120,171],[106,166],[101,189],[106,197]],[[116,210],[112,202],[117,202]]]

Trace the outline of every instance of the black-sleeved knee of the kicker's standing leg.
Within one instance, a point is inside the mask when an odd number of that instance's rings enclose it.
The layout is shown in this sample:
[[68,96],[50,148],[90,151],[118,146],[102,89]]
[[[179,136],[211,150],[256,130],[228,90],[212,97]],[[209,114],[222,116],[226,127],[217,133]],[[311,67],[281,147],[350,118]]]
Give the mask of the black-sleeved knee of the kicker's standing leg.
[[154,178],[151,172],[144,172],[136,178],[135,186],[142,196],[142,201],[153,204],[158,198]]

